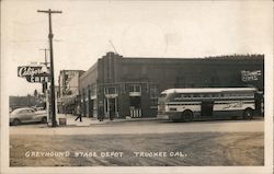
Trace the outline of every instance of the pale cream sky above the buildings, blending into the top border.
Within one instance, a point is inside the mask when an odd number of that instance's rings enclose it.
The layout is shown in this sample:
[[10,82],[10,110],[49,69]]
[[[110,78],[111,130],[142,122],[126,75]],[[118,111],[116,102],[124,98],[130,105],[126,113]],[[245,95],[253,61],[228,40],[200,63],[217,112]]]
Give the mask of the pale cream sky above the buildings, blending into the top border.
[[62,11],[53,14],[56,84],[60,70],[88,70],[107,51],[144,58],[272,56],[271,0],[2,0],[1,85],[9,95],[42,91],[16,71],[44,61],[39,49],[48,48],[48,16],[37,10],[48,9]]

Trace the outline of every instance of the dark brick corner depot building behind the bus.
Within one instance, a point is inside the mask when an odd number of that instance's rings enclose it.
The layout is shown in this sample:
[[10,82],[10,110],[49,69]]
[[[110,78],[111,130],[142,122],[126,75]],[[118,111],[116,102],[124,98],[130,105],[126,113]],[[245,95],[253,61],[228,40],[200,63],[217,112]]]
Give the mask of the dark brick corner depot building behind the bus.
[[264,90],[264,55],[136,58],[107,53],[79,78],[82,116],[155,117],[159,94],[171,88]]

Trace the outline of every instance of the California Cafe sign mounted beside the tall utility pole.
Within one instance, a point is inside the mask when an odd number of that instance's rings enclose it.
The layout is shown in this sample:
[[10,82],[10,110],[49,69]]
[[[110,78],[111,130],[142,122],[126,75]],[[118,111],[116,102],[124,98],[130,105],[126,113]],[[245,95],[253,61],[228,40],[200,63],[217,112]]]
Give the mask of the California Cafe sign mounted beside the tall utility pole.
[[23,66],[18,67],[18,77],[25,78],[31,83],[49,82],[48,68],[46,66]]

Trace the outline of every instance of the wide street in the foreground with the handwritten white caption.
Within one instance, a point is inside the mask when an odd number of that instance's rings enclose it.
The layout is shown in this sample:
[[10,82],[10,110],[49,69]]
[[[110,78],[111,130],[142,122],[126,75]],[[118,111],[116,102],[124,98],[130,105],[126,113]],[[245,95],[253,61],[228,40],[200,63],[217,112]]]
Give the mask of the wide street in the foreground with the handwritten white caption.
[[[11,166],[263,165],[263,118],[171,123],[84,118],[10,128]],[[87,124],[89,121],[89,124]]]

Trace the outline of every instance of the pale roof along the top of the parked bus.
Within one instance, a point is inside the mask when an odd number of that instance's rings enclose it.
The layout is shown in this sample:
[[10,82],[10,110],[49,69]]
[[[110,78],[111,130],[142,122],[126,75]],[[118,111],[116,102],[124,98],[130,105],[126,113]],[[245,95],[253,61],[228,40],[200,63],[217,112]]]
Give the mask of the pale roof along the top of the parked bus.
[[255,88],[199,88],[199,89],[168,89],[162,94],[169,93],[220,93],[220,92],[254,92]]

